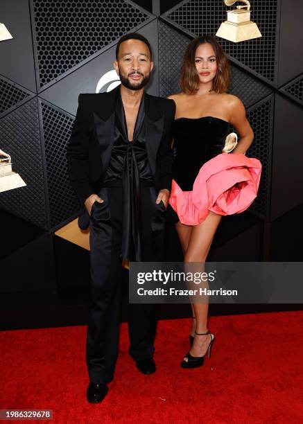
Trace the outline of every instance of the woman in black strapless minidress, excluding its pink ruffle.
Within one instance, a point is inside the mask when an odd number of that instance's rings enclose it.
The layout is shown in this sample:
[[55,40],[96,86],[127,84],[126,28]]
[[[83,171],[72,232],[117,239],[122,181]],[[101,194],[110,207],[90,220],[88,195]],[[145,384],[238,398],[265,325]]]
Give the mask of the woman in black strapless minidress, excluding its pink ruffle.
[[[227,94],[229,85],[230,67],[216,39],[206,35],[193,39],[182,63],[182,91],[168,97],[176,104],[173,179],[182,191],[192,191],[201,166],[222,153],[229,124],[241,136],[232,153],[245,153],[252,143],[254,134],[245,108],[239,98]],[[204,263],[222,215],[207,211],[200,224],[188,225],[180,222],[171,204],[168,209],[175,218],[184,263]],[[207,328],[208,302],[191,306],[191,349],[181,362],[182,368],[201,366],[214,341]]]

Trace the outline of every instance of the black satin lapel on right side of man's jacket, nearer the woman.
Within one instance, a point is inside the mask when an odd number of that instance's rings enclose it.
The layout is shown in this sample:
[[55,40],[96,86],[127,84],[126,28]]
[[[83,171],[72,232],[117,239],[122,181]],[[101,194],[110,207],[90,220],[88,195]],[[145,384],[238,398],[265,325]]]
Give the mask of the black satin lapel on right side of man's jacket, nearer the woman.
[[146,114],[145,124],[147,139],[146,150],[148,154],[148,162],[153,175],[155,175],[157,150],[162,139],[164,116],[158,118],[157,121],[151,121],[150,117]]

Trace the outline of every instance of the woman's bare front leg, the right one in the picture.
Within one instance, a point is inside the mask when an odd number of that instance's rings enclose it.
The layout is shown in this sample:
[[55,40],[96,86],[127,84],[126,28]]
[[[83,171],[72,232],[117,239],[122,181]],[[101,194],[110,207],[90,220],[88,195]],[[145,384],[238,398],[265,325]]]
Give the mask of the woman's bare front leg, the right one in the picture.
[[[207,218],[192,228],[187,251],[184,255],[185,263],[205,262],[221,218],[222,215],[209,211]],[[196,317],[196,333],[206,333],[208,302],[193,303],[192,307]],[[196,357],[205,355],[210,341],[210,334],[204,337],[195,337],[190,351],[191,355]]]

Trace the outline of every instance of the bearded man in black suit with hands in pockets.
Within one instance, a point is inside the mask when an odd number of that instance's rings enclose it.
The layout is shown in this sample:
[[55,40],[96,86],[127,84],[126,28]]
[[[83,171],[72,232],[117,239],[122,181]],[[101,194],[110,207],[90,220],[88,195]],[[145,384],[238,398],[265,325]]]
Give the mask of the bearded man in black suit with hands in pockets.
[[[121,85],[80,94],[67,147],[69,177],[90,223],[92,305],[87,326],[87,400],[101,402],[118,353],[122,260],[161,260],[171,189],[172,100],[149,96],[153,69],[148,40],[124,35],[114,68]],[[139,371],[155,372],[153,306],[131,304],[129,353]]]

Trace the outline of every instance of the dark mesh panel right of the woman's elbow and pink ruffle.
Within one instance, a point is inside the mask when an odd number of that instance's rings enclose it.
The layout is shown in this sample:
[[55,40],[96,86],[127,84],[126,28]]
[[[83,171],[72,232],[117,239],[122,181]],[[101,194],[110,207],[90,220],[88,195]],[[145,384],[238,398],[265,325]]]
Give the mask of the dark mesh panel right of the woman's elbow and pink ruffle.
[[[274,95],[272,94],[257,105],[250,107],[247,112],[248,121],[254,131],[254,141],[246,154],[248,157],[256,157],[262,164],[258,195],[248,210],[263,219],[268,219],[270,213],[273,107]],[[236,132],[234,127],[230,127],[230,131]]]

